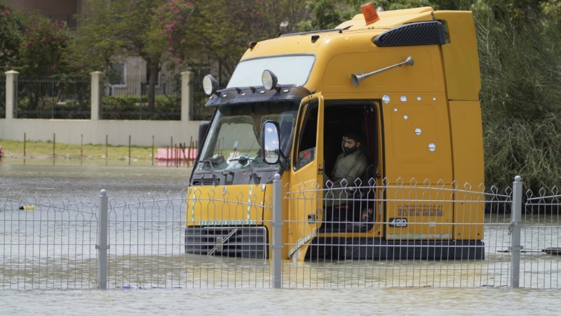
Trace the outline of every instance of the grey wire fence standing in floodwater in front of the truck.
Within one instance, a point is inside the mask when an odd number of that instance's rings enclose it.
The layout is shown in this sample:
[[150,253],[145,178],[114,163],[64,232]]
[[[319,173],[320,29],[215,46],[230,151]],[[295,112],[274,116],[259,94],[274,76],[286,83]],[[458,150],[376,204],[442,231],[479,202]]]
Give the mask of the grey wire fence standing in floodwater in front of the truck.
[[[307,222],[290,217],[280,221],[280,204],[297,204],[299,199],[310,202],[304,197],[311,190],[303,184],[281,187],[280,180],[274,183],[273,195],[264,196],[262,201],[257,201],[255,192],[249,196],[229,195],[222,187],[205,195],[183,191],[122,199],[111,198],[102,190],[94,202],[75,203],[7,190],[0,193],[0,288],[559,288],[561,195],[556,188],[522,194],[522,183],[517,180],[505,192],[494,187],[450,189],[415,182],[370,185],[368,190],[386,190],[384,199],[380,196],[372,202],[438,204],[450,202],[455,196],[462,209],[485,205],[482,218],[465,223],[466,227],[483,223],[485,258],[433,260],[423,256],[367,260],[317,256],[308,261],[281,258],[278,254],[283,248],[292,249],[298,244],[280,242],[278,234],[283,225],[297,229]],[[471,199],[475,196],[484,198]],[[185,235],[185,225],[190,220],[187,205],[190,208],[194,203],[209,202],[216,206],[227,201],[234,207],[224,208],[229,213],[264,210],[264,218],[270,218],[272,223],[273,237],[264,244],[272,249],[271,258],[220,256],[232,250],[227,236],[218,236],[222,242],[213,242],[206,251],[185,254],[189,237]],[[342,223],[340,218],[328,220],[332,225]],[[358,223],[365,224],[360,220]],[[366,224],[388,222],[377,219]],[[364,230],[365,236],[367,232]],[[217,240],[215,237],[212,239]],[[369,247],[372,244],[359,244],[347,250],[356,253],[368,251]],[[396,254],[397,250],[393,251]]]

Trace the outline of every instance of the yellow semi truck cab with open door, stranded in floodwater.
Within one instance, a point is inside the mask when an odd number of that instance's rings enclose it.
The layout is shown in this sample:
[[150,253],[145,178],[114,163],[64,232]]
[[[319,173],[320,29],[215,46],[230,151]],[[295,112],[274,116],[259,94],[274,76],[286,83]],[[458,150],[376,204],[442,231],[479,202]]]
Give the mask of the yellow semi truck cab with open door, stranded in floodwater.
[[[484,258],[471,12],[367,4],[335,29],[252,42],[226,88],[203,86],[216,112],[199,130],[186,253],[271,256],[279,174],[284,258]],[[347,131],[368,168],[333,193],[324,173]]]

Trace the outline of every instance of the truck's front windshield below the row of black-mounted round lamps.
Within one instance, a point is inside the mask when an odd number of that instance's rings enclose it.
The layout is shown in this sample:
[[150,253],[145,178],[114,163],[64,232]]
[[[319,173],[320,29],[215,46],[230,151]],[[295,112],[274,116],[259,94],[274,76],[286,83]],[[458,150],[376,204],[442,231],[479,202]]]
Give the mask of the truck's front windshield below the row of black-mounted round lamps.
[[280,150],[289,152],[298,107],[298,100],[220,105],[196,171],[277,168],[263,161],[262,124],[267,120],[278,122]]

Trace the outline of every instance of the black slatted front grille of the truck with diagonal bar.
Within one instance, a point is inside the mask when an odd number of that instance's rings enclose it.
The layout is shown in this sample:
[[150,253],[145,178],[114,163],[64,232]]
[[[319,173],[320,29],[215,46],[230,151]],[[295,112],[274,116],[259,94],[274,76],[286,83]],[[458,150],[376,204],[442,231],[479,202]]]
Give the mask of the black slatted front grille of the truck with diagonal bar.
[[267,258],[264,226],[189,226],[185,228],[185,253]]

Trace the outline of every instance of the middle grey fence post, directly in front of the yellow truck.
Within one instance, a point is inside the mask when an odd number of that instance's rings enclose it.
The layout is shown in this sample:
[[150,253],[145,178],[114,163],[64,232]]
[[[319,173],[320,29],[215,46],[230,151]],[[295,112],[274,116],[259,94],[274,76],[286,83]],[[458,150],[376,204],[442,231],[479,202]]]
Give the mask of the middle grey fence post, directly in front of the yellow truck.
[[283,287],[283,184],[280,174],[273,180],[273,287]]

